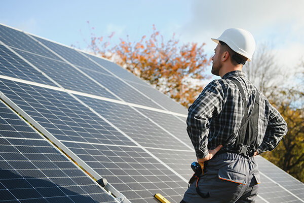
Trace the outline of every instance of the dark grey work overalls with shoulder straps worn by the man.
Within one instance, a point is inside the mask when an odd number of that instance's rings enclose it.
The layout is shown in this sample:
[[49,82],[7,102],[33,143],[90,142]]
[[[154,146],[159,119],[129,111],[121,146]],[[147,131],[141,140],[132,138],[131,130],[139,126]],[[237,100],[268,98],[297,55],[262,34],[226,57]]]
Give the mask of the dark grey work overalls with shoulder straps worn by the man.
[[[197,175],[180,203],[240,203],[254,202],[260,183],[257,162],[253,154],[257,145],[258,92],[248,116],[247,102],[241,84],[245,114],[233,150],[220,150],[205,162],[204,173]],[[223,147],[224,148],[224,147]]]

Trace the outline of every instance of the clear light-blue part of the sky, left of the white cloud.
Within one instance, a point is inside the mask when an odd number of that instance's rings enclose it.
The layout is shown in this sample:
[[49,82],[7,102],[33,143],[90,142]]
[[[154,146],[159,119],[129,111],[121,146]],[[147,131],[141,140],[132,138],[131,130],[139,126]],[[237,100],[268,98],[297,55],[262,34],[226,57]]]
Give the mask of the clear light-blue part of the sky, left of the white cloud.
[[177,31],[174,26],[186,21],[191,12],[191,4],[176,1],[84,2],[6,1],[0,21],[66,45],[79,42],[84,46],[83,39],[90,37],[87,21],[98,36],[115,31],[115,39],[129,35],[137,40],[151,33],[153,24],[164,36],[171,36]]

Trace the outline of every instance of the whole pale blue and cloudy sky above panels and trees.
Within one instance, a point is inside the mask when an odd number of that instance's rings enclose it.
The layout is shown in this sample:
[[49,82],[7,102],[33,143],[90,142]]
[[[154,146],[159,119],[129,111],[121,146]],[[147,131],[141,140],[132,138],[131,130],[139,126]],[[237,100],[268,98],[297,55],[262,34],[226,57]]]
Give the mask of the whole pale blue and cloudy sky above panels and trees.
[[[167,1],[2,1],[0,23],[85,49],[92,27],[97,37],[115,32],[112,43],[131,41],[153,32],[164,39],[173,33],[180,43],[206,43],[212,56],[226,28],[247,29],[257,46],[271,44],[277,62],[293,70],[304,59],[304,1],[301,0],[167,0]],[[90,22],[88,24],[87,22]]]

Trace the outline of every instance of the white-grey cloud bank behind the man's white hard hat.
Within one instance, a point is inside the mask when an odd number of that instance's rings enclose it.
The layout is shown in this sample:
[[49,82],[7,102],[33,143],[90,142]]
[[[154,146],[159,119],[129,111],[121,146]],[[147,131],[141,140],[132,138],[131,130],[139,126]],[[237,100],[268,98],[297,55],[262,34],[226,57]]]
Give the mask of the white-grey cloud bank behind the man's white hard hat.
[[193,1],[192,18],[181,28],[181,40],[206,43],[212,52],[211,37],[219,37],[223,30],[241,27],[249,30],[256,41],[272,40],[286,44],[289,40],[304,42],[304,1]]

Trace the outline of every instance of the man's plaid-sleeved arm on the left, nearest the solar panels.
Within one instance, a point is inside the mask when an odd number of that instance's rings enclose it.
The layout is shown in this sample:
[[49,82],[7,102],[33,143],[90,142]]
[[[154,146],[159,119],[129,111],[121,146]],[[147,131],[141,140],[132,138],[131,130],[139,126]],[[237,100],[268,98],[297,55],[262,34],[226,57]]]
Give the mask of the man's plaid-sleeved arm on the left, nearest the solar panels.
[[214,80],[204,88],[203,92],[188,109],[187,132],[198,160],[210,157],[207,148],[209,119],[221,112],[223,104],[224,93],[222,85],[218,80]]

